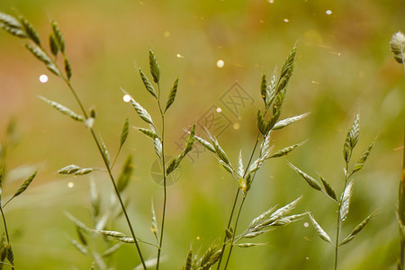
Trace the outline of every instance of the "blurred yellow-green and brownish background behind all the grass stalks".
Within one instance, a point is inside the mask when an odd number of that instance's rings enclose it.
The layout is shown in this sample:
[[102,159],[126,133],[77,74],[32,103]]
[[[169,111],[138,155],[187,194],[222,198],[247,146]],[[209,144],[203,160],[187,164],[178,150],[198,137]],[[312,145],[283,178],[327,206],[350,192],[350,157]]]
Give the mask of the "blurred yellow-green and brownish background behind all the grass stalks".
[[[274,2],[274,3],[273,3]],[[343,185],[342,146],[347,129],[360,113],[359,157],[378,134],[375,147],[356,175],[354,195],[342,237],[376,208],[381,213],[339,253],[340,269],[395,269],[399,251],[396,202],[401,175],[405,79],[392,58],[388,42],[405,30],[405,2],[387,1],[58,1],[2,0],[0,11],[23,14],[48,40],[49,20],[58,22],[73,67],[72,84],[87,107],[98,112],[95,129],[112,155],[121,126],[144,126],[122,102],[126,89],[153,117],[156,103],[145,91],[136,67],[148,71],[148,48],[161,67],[162,91],[168,93],[179,76],[179,90],[167,113],[168,155],[178,152],[183,128],[218,106],[229,127],[219,134],[221,146],[237,164],[241,148],[247,160],[256,138],[257,108],[262,72],[271,76],[282,66],[293,44],[299,59],[289,85],[282,118],[311,112],[306,119],[274,133],[275,149],[309,139],[288,157],[271,159],[257,175],[247,196],[239,228],[275,204],[303,195],[295,212],[312,211],[323,229],[335,235],[333,203],[316,193],[286,165],[286,160],[311,175],[319,172],[340,193]],[[327,13],[327,11],[330,11]],[[103,166],[84,126],[55,112],[37,95],[63,103],[78,112],[67,87],[32,58],[23,40],[0,32],[0,134],[16,119],[18,143],[8,157],[10,177],[3,196],[14,193],[23,175],[40,167],[26,193],[5,209],[18,269],[88,269],[91,259],[70,243],[76,238],[70,212],[91,226],[89,178],[103,201],[112,186],[103,173],[63,177],[55,172],[69,164]],[[224,67],[216,62],[222,59]],[[49,82],[41,84],[39,76]],[[235,82],[252,97],[238,116],[221,103]],[[166,91],[166,92],[165,92]],[[235,124],[236,123],[236,124]],[[199,130],[201,132],[202,130]],[[218,135],[218,134],[217,134]],[[3,136],[3,135],[2,135]],[[152,143],[131,130],[114,174],[132,153],[135,166],[125,196],[137,235],[153,241],[150,202],[160,220],[162,189],[150,175],[156,160]],[[190,245],[202,253],[220,240],[233,202],[236,184],[209,153],[187,158],[181,178],[168,188],[164,262],[162,269],[179,269]],[[68,183],[73,187],[68,187]],[[315,229],[300,220],[272,231],[258,241],[265,247],[235,248],[229,269],[331,269],[333,248]],[[159,221],[160,223],[160,221]],[[113,228],[127,232],[122,217]],[[155,256],[141,246],[146,257]],[[116,269],[136,266],[134,247],[113,257]]]

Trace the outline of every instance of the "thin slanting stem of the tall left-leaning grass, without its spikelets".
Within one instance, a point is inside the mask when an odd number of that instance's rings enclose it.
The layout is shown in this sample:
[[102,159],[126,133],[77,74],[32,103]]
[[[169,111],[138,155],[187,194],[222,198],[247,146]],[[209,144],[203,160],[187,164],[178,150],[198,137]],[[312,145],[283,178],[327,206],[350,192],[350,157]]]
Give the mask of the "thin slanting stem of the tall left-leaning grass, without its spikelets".
[[[67,86],[70,89],[70,92],[74,95],[74,97],[76,99],[76,102],[78,103],[81,111],[83,112],[83,115],[85,116],[85,119],[87,119],[88,118],[87,112],[85,112],[85,107],[83,106],[83,103],[80,101],[78,95],[76,94],[75,89],[70,84],[70,82],[67,80],[67,78],[65,78],[63,76],[60,76],[60,77],[67,83]],[[139,259],[140,259],[140,261],[142,263],[143,268],[146,270],[147,266],[145,264],[145,260],[142,257],[142,253],[140,251],[139,243],[138,243],[138,240],[137,240],[137,238],[135,236],[135,231],[133,230],[132,225],[130,223],[130,217],[128,216],[128,213],[127,213],[127,211],[125,209],[125,205],[122,202],[121,194],[120,194],[120,192],[118,190],[117,184],[115,183],[114,177],[112,176],[111,167],[109,166],[107,159],[103,155],[103,148],[101,147],[100,141],[98,140],[97,136],[95,135],[93,128],[90,127],[89,130],[90,130],[90,133],[92,134],[95,145],[97,146],[97,148],[98,148],[98,150],[100,152],[100,155],[103,157],[103,163],[104,163],[105,167],[107,168],[107,172],[108,172],[108,175],[110,176],[114,192],[115,192],[115,194],[116,194],[116,196],[118,198],[118,201],[120,202],[121,210],[122,210],[122,212],[123,212],[123,214],[125,216],[125,220],[127,221],[128,227],[130,228],[130,234],[131,234],[131,236],[132,236],[132,238],[134,240],[135,246],[137,248]]]

